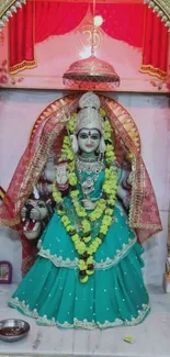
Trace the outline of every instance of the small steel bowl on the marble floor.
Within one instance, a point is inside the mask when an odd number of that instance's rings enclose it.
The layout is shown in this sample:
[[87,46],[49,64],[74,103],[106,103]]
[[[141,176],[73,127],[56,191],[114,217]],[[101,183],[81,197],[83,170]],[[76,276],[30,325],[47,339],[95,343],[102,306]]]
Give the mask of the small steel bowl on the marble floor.
[[30,324],[26,321],[18,319],[8,319],[0,321],[0,339],[5,342],[15,342],[27,335]]

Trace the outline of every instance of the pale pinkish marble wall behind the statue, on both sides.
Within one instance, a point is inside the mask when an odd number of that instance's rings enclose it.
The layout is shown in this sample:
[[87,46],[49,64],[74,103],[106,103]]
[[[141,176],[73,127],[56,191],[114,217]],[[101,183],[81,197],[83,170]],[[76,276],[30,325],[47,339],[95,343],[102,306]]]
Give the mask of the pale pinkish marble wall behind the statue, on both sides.
[[[0,186],[8,187],[25,149],[32,126],[42,110],[60,97],[58,91],[0,91]],[[131,112],[141,136],[143,156],[156,191],[163,231],[148,241],[144,277],[147,283],[161,285],[166,263],[168,209],[170,202],[170,115],[166,96],[111,94]],[[20,279],[21,247],[16,234],[0,227],[0,259],[14,267]]]

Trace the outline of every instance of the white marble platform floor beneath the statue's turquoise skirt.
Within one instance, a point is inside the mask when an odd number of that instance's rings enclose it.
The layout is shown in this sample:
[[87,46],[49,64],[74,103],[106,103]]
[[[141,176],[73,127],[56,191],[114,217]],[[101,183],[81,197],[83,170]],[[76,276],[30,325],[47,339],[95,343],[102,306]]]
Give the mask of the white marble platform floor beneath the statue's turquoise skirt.
[[[169,357],[170,356],[170,294],[150,287],[151,313],[143,324],[105,331],[58,330],[38,326],[30,317],[8,308],[15,286],[0,285],[0,320],[20,317],[27,321],[31,331],[25,339],[0,342],[0,356],[104,356],[104,357]],[[125,336],[135,342],[124,342]]]

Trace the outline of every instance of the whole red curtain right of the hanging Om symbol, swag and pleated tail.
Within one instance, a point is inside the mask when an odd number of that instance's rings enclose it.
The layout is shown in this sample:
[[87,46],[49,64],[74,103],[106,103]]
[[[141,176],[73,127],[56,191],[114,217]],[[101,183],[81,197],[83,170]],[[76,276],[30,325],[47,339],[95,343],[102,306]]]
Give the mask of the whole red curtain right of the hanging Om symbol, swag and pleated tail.
[[152,9],[143,3],[100,3],[95,13],[103,18],[109,36],[143,47],[141,72],[167,77],[168,27]]

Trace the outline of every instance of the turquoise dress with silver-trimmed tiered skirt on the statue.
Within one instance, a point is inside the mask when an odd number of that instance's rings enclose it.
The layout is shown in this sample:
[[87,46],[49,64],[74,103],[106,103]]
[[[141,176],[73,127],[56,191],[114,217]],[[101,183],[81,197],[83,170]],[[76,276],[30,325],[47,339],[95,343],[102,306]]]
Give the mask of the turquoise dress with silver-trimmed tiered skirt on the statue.
[[[91,200],[100,198],[103,180],[104,169],[94,183]],[[72,222],[78,220],[69,196],[65,208]],[[92,223],[93,238],[100,224],[101,219]],[[9,304],[42,325],[90,330],[135,325],[149,312],[141,275],[143,252],[117,199],[113,224],[94,255],[95,271],[88,282],[81,283],[73,243],[60,216],[54,213],[38,241],[38,257]]]

